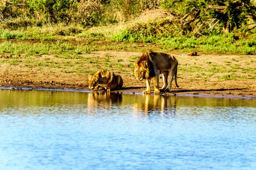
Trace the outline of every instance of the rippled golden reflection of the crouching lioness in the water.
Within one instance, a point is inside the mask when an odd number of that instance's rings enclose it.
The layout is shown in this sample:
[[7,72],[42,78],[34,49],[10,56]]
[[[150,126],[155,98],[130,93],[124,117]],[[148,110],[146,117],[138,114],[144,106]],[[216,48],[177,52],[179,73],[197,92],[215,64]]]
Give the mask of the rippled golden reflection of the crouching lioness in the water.
[[88,94],[88,113],[97,113],[99,109],[111,110],[113,103],[122,103],[122,94],[93,91]]

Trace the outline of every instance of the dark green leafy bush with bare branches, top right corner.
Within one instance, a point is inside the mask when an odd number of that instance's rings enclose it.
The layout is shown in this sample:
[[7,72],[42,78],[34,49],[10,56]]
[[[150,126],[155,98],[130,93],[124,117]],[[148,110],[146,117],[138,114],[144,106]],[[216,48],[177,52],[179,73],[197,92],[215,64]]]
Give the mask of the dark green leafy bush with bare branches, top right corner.
[[247,23],[256,22],[256,7],[250,0],[165,0],[162,7],[173,11],[195,34],[232,32]]

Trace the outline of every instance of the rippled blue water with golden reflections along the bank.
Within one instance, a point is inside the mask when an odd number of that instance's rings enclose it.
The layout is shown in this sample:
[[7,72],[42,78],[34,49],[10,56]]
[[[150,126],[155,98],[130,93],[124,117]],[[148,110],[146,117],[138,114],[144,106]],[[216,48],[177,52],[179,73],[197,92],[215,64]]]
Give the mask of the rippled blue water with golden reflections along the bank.
[[1,170],[254,170],[256,100],[0,90]]

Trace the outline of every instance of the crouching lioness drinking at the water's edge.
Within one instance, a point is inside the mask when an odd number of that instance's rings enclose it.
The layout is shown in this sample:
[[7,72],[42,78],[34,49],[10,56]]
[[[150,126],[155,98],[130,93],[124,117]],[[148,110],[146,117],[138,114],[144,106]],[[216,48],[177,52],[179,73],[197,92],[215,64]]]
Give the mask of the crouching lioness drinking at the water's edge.
[[115,75],[112,71],[99,70],[93,75],[88,77],[89,88],[91,90],[99,90],[100,87],[105,88],[107,91],[113,89],[120,89],[123,85],[123,80],[120,75]]

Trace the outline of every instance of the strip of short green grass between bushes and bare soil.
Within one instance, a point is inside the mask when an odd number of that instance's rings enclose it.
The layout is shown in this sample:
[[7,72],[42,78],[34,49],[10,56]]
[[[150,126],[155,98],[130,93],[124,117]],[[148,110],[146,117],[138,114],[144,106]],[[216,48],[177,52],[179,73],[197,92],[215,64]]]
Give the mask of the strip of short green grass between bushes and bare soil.
[[[3,33],[2,33],[3,34]],[[75,44],[73,42],[63,42],[63,37],[58,37],[56,42],[41,42],[29,43],[29,42],[2,42],[0,44],[0,54],[27,54],[27,55],[44,55],[55,54],[56,56],[67,57],[67,59],[80,58],[81,54],[90,54],[92,51],[140,51],[147,48],[140,49],[135,44],[137,42],[128,42],[127,44],[115,44],[94,45],[92,42],[82,42]],[[233,40],[225,35],[208,36],[208,37],[162,37],[161,39],[155,39],[154,43],[156,48],[160,52],[164,51],[178,51],[188,53],[191,51],[198,51],[204,54],[256,54],[256,45],[253,38],[256,35],[251,35],[249,40]],[[38,40],[38,39],[35,39]],[[102,40],[109,41],[109,40]],[[151,42],[153,43],[153,42]],[[67,56],[66,56],[67,55]],[[137,57],[131,57],[131,59],[137,59]],[[232,61],[238,62],[237,59]],[[227,61],[227,63],[230,61]],[[253,61],[255,62],[255,61]]]

